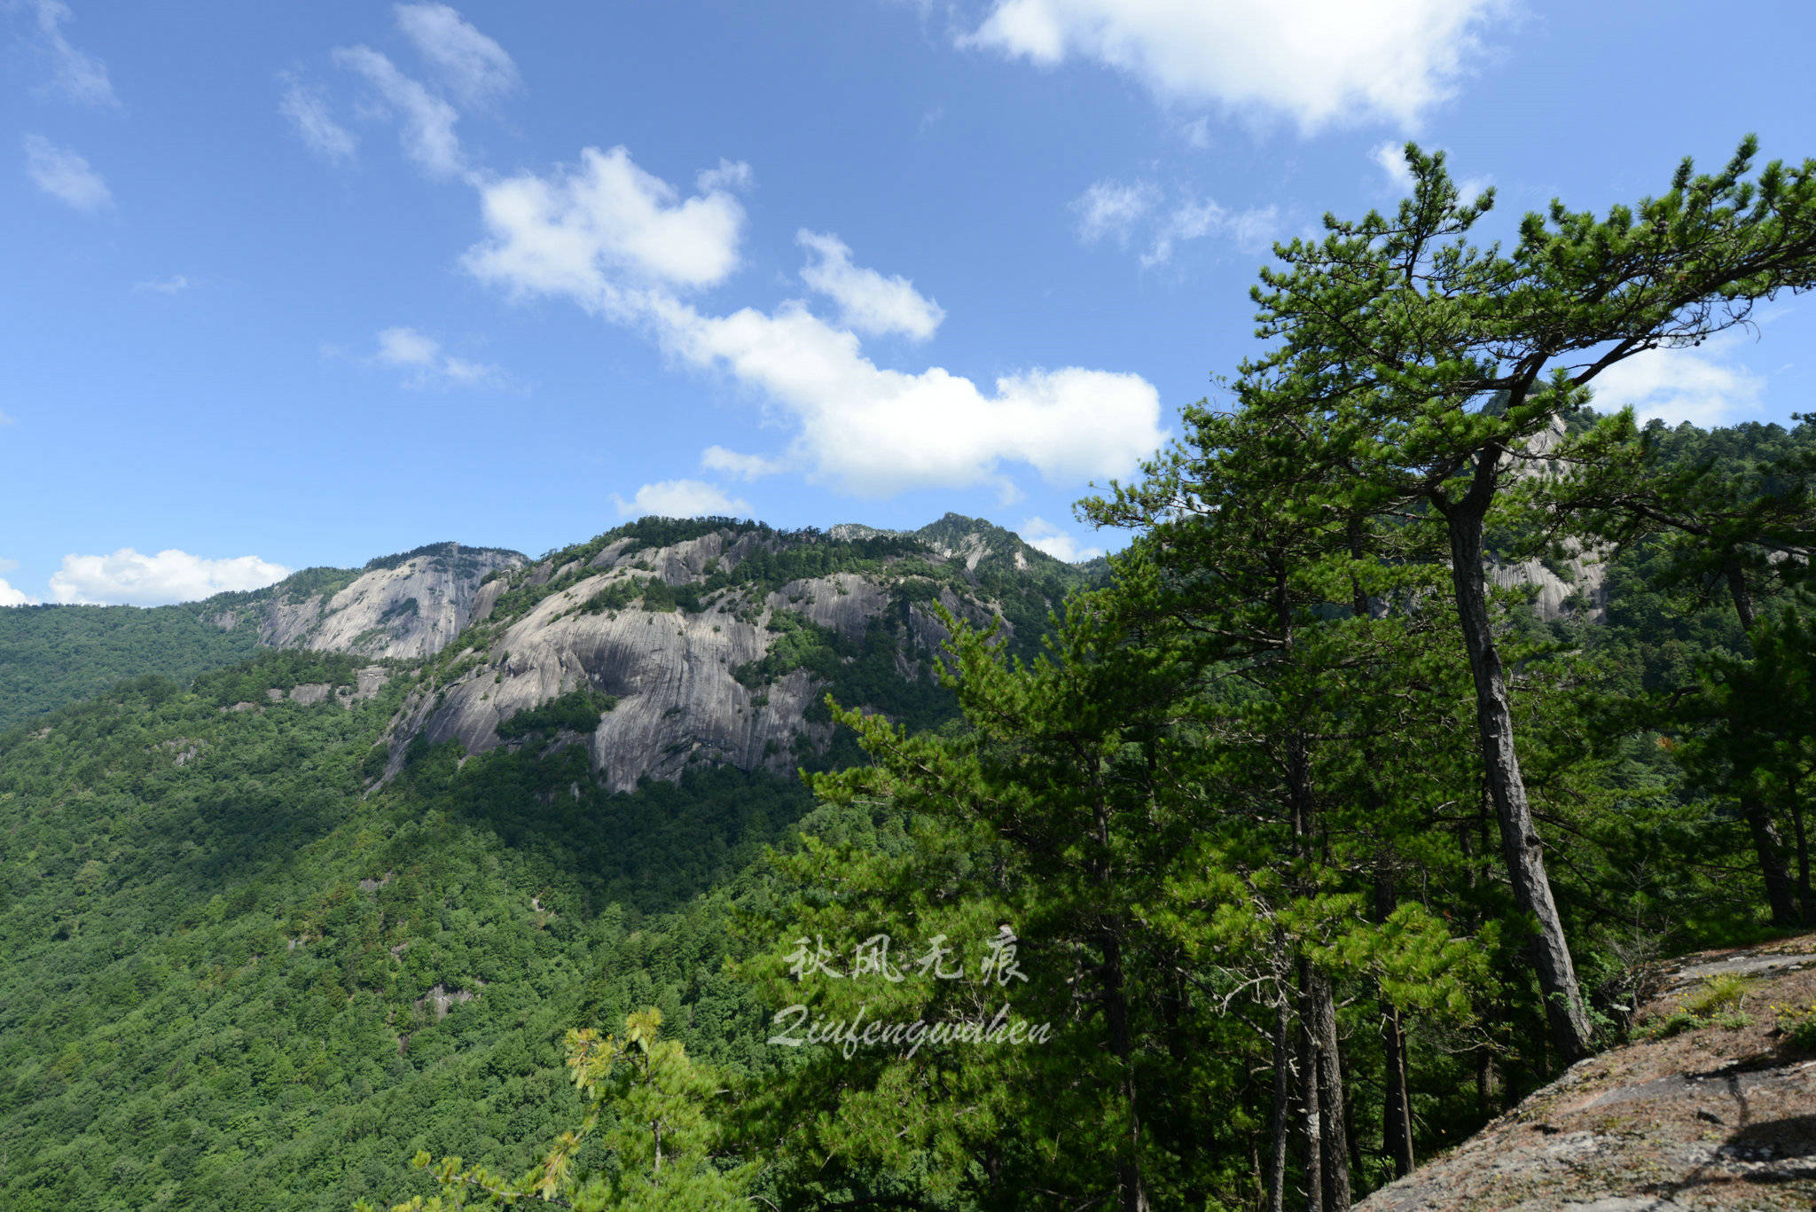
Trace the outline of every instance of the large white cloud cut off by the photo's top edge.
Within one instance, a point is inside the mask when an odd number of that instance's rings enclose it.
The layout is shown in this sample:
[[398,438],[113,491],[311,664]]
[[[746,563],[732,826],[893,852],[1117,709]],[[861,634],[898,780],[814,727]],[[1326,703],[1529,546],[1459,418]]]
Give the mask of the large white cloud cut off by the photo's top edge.
[[1278,113],[1302,131],[1406,127],[1451,96],[1502,0],[997,0],[961,45],[1128,73],[1170,104]]

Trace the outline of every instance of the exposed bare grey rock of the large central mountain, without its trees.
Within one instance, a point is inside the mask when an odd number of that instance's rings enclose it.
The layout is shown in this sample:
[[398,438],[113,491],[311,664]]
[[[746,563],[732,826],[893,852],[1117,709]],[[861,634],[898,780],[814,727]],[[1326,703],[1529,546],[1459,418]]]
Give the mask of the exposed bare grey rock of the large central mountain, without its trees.
[[[389,772],[401,769],[405,747],[418,734],[429,743],[459,740],[467,752],[521,745],[521,738],[499,736],[499,725],[574,690],[612,696],[616,705],[590,734],[561,732],[534,743],[548,750],[585,745],[596,776],[614,790],[634,789],[645,778],[679,778],[697,763],[792,770],[808,747],[819,750],[832,740],[830,723],[808,720],[824,683],[803,669],[759,685],[745,685],[737,672],[783,640],[785,632],[768,623],[790,612],[859,643],[879,620],[904,623],[895,667],[904,678],[921,678],[926,652],[946,640],[946,629],[926,603],[904,605],[893,596],[886,571],[794,580],[763,596],[723,591],[697,612],[652,612],[641,603],[587,609],[605,592],[623,600],[627,583],[699,583],[735,571],[757,552],[775,552],[781,543],[772,531],[717,531],[661,549],[617,540],[587,558],[585,567],[572,558],[558,558],[559,565],[550,560],[518,583],[556,591],[503,629],[492,618],[503,581],[492,581],[470,607],[470,620],[487,623],[476,632],[479,647],[454,643],[445,658],[463,672],[452,683],[414,690],[392,723]],[[961,538],[948,556],[923,549],[915,558],[970,569],[981,556],[979,543]],[[939,601],[977,623],[992,618],[992,603],[950,585]]]

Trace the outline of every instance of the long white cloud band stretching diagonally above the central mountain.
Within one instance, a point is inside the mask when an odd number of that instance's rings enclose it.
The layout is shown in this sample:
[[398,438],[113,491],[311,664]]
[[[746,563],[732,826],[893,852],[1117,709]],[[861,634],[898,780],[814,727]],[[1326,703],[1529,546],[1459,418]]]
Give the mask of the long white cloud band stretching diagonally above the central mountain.
[[670,287],[730,273],[743,209],[719,193],[679,202],[623,147],[588,149],[577,171],[487,184],[481,198],[492,240],[467,254],[470,273],[516,296],[570,298],[732,374],[795,423],[790,463],[850,492],[1004,487],[1004,462],[1059,482],[1115,476],[1166,440],[1159,392],[1135,374],[1031,369],[986,392],[943,367],[881,369],[854,331],[797,302],[701,313]]

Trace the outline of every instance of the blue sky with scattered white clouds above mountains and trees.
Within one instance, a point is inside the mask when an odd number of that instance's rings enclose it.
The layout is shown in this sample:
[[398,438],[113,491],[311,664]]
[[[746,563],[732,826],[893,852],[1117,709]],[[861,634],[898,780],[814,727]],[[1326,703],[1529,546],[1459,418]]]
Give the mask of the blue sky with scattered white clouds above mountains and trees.
[[[1075,558],[1253,351],[1271,240],[1816,154],[1816,9],[0,0],[0,603],[173,601],[641,512]],[[7,165],[7,158],[11,164]],[[1609,383],[1812,407],[1816,307]],[[1618,398],[1618,400],[1616,400]]]

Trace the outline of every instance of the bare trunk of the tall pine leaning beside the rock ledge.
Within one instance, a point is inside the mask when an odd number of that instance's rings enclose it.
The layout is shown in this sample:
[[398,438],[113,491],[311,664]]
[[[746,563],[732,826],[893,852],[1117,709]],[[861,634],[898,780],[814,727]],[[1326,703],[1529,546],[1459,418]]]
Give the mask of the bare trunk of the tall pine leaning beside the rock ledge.
[[[1493,458],[1485,456],[1476,469],[1493,476]],[[1493,483],[1489,480],[1489,483]],[[1476,489],[1471,489],[1476,496]],[[1520,776],[1520,758],[1513,747],[1513,705],[1507,700],[1507,678],[1500,665],[1500,651],[1487,616],[1487,585],[1482,569],[1482,520],[1485,500],[1449,505],[1446,511],[1451,532],[1451,583],[1456,591],[1456,618],[1462,623],[1464,647],[1469,651],[1469,672],[1476,687],[1476,729],[1482,741],[1482,770],[1489,798],[1500,821],[1500,845],[1513,881],[1513,898],[1520,912],[1538,921],[1533,939],[1533,967],[1545,998],[1545,1018],[1551,1038],[1565,1063],[1589,1056],[1589,1016],[1584,1010],[1582,990],[1576,985],[1576,967],[1564,939],[1564,923],[1551,899],[1551,881],[1545,878],[1545,856],[1533,827],[1533,809],[1525,798],[1525,780]]]

